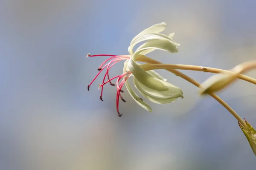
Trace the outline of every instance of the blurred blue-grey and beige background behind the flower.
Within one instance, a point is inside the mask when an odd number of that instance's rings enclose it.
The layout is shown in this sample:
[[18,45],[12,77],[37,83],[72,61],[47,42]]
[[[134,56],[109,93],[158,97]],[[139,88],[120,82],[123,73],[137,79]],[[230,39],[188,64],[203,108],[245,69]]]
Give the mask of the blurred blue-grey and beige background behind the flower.
[[[184,99],[147,101],[148,113],[125,90],[119,118],[115,87],[106,85],[99,100],[103,75],[87,91],[106,57],[86,54],[128,54],[135,35],[164,21],[180,51],[149,57],[230,69],[256,59],[255,7],[253,0],[1,0],[0,169],[254,169],[236,119],[214,99],[160,70]],[[199,82],[212,75],[182,72]],[[239,80],[219,96],[256,127],[255,85]]]

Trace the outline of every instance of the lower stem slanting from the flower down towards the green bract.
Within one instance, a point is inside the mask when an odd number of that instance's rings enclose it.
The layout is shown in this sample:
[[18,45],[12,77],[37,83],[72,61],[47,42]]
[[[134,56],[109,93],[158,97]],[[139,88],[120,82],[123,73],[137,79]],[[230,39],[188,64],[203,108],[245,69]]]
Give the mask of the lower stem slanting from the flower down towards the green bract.
[[[152,59],[154,60],[154,59]],[[157,65],[160,64],[161,62],[157,61],[157,60],[154,60],[154,61],[147,61],[148,63],[154,63],[154,65]],[[143,61],[145,62],[145,61]],[[145,64],[147,65],[147,64]],[[161,64],[163,65],[163,64]],[[143,67],[143,65],[140,65]],[[155,68],[147,68],[145,69],[145,71],[148,71],[148,70],[153,70]],[[160,68],[159,68],[160,69]],[[181,73],[180,71],[177,71],[173,68],[162,68],[162,69],[165,69],[183,79],[185,79],[186,81],[192,83],[193,85],[197,86],[198,88],[200,88],[201,84],[197,81],[195,81],[194,79],[192,79],[191,77],[187,76],[186,74],[183,74]],[[222,106],[224,106],[224,108],[226,108],[240,123],[241,125],[243,125],[244,127],[246,126],[245,122],[243,121],[243,119],[241,119],[241,117],[236,113],[236,111],[234,111],[226,102],[224,102],[224,100],[222,100],[219,96],[217,96],[216,94],[212,93],[212,94],[209,94],[210,96],[212,96],[215,100],[217,100]]]

